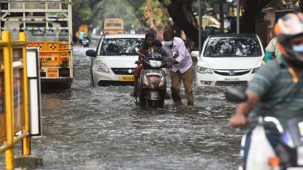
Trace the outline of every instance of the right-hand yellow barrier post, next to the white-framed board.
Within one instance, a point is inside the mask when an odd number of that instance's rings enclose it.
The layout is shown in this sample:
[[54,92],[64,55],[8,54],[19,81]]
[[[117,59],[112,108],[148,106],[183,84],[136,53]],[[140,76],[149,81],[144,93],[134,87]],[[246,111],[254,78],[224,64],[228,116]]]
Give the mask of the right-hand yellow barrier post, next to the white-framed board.
[[[25,32],[19,33],[19,40],[26,42]],[[22,47],[23,55],[23,101],[25,113],[25,130],[22,133],[29,132],[29,102],[28,102],[28,78],[27,78],[27,65],[26,65],[26,45]],[[30,136],[23,139],[23,155],[31,154]]]

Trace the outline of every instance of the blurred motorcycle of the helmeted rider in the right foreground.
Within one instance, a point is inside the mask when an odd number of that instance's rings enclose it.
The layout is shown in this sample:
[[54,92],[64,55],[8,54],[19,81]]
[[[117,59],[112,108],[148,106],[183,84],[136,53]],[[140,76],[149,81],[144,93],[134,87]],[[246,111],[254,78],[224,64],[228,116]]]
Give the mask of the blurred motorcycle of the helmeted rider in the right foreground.
[[[225,96],[232,102],[245,102],[247,101],[246,93],[240,89],[228,89]],[[257,120],[247,120],[251,127],[263,128],[268,123],[274,123],[278,132],[281,134],[278,146],[274,150],[271,145],[269,149],[274,151],[274,157],[266,157],[264,155],[248,156],[246,169],[272,169],[272,170],[303,170],[303,118],[296,117],[288,120],[287,124],[283,127],[278,119],[274,117],[258,117]],[[265,131],[263,135],[265,136]],[[258,134],[259,135],[259,134]],[[243,142],[243,141],[242,141]],[[258,142],[258,141],[257,141]],[[258,142],[258,147],[266,145],[265,142]],[[266,147],[265,147],[266,148]],[[250,152],[250,151],[249,151]],[[264,151],[266,152],[266,151]],[[248,153],[249,154],[249,153]],[[260,161],[263,160],[263,161]],[[266,167],[267,168],[264,168]],[[240,165],[238,170],[242,170]]]

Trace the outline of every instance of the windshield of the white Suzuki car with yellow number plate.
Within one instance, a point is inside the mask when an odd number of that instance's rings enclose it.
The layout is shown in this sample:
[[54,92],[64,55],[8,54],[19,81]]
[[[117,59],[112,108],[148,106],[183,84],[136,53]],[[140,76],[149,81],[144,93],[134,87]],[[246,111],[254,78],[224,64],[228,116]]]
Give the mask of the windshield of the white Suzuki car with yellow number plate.
[[138,55],[136,52],[144,42],[144,38],[104,38],[100,55]]

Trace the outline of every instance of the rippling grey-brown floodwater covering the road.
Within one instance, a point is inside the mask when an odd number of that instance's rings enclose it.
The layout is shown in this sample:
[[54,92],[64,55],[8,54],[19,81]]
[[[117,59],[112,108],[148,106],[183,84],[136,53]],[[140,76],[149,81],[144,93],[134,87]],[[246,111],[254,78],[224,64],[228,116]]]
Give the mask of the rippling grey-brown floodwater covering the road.
[[[182,85],[183,106],[166,100],[163,108],[142,109],[131,86],[90,86],[88,49],[95,47],[75,47],[71,89],[42,93],[44,137],[32,139],[32,154],[43,158],[43,169],[220,170],[240,163],[241,133],[229,124],[236,105],[225,100],[225,88],[194,83],[195,106],[186,106]],[[169,87],[170,79],[170,94]]]

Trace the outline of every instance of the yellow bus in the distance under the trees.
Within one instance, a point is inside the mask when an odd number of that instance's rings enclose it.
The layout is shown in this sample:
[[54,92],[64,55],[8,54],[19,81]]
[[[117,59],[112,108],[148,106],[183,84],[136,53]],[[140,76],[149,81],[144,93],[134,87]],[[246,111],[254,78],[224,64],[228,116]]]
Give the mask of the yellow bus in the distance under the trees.
[[124,34],[123,20],[119,18],[105,19],[103,34]]

